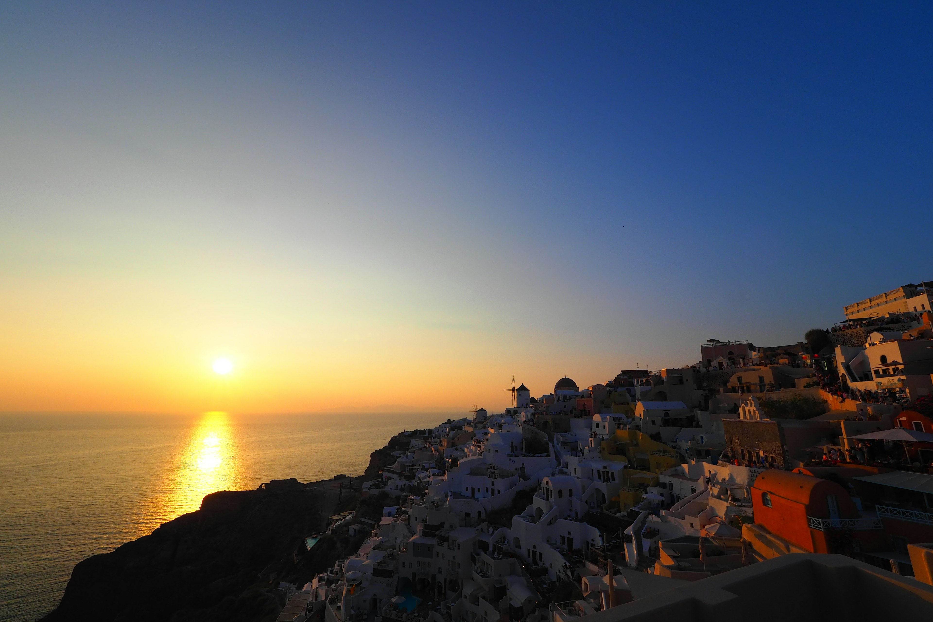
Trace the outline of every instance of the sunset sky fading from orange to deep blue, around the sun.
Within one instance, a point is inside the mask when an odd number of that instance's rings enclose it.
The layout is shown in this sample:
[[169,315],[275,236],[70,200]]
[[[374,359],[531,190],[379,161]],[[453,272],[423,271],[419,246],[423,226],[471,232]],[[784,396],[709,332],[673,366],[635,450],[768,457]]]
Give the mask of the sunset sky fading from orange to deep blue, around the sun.
[[5,3],[0,410],[500,408],[933,280],[933,5],[812,4]]

